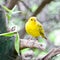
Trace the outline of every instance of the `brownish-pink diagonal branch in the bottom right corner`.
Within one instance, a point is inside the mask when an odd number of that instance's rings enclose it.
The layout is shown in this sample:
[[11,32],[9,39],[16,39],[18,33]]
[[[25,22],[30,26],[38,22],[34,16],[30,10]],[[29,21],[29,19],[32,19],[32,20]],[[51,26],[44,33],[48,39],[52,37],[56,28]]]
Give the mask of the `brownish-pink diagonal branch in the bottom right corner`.
[[57,54],[60,54],[60,47],[53,48],[46,56],[42,58],[42,60],[49,60]]

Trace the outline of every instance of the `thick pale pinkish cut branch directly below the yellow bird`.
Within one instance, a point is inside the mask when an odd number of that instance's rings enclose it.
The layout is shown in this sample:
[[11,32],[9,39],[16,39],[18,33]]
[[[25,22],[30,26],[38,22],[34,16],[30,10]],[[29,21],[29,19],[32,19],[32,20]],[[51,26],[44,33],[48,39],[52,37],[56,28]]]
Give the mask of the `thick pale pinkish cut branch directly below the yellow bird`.
[[38,48],[44,50],[44,46],[36,40],[20,39],[20,48]]

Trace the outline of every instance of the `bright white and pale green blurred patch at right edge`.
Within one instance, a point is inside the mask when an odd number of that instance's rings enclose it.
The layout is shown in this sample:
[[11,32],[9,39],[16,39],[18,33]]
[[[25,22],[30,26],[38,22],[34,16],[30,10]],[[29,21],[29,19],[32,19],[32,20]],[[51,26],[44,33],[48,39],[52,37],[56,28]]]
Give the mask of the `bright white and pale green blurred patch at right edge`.
[[52,31],[48,37],[55,45],[60,45],[60,29]]

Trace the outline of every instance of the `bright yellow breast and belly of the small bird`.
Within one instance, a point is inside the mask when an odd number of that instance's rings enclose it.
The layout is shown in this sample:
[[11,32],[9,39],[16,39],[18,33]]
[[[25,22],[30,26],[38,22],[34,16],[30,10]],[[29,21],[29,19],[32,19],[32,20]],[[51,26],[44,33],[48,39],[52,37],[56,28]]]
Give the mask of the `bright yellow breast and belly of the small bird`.
[[34,24],[26,24],[26,32],[30,35],[32,35],[33,37],[38,37],[40,36],[40,33],[38,31],[38,28],[36,25]]

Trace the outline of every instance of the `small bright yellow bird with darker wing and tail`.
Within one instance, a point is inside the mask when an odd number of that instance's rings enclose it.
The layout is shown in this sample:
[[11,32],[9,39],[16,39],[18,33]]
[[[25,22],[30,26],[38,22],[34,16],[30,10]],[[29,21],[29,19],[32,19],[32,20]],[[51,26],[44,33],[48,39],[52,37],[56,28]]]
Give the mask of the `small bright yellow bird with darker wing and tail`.
[[39,21],[37,21],[36,17],[30,17],[28,19],[28,21],[25,24],[25,30],[29,35],[35,38],[41,36],[42,38],[45,38],[47,40],[44,34],[43,26]]

